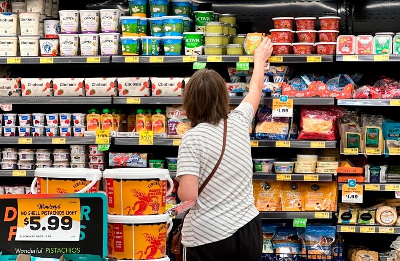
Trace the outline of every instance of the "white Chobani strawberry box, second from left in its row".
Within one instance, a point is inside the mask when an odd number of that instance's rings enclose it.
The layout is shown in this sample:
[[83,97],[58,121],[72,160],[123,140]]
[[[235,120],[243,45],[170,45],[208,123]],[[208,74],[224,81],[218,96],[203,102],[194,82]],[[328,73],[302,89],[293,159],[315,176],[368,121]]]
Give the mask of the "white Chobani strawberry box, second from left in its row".
[[23,97],[51,96],[51,78],[21,78]]

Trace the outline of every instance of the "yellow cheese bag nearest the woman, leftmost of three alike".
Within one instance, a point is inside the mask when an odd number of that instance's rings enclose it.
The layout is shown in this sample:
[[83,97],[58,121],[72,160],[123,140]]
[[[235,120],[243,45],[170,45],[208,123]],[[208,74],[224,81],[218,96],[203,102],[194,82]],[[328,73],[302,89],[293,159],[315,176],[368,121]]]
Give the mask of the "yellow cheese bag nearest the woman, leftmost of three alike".
[[253,180],[254,204],[258,211],[279,211],[281,182]]

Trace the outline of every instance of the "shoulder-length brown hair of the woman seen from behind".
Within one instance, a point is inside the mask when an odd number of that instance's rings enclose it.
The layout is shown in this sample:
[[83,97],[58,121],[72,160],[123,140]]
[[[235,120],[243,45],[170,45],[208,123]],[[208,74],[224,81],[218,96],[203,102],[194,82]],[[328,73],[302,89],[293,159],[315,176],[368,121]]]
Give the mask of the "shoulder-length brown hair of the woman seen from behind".
[[183,106],[192,127],[199,123],[217,125],[229,113],[225,80],[214,70],[198,70],[185,86]]

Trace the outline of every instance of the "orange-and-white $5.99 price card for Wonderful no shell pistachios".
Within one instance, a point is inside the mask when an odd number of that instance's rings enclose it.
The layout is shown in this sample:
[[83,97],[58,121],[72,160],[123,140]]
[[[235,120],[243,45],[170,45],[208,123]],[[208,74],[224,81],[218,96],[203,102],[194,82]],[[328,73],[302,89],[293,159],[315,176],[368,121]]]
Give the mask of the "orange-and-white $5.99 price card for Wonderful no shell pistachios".
[[78,198],[18,198],[15,240],[78,241],[81,203]]

